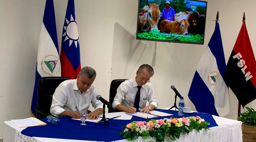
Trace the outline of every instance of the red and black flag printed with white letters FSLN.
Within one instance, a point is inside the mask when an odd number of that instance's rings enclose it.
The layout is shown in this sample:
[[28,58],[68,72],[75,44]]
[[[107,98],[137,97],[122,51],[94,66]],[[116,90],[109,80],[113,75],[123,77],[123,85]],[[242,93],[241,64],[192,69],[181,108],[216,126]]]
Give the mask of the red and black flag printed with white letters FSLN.
[[224,78],[243,108],[255,100],[256,62],[245,21],[228,59]]

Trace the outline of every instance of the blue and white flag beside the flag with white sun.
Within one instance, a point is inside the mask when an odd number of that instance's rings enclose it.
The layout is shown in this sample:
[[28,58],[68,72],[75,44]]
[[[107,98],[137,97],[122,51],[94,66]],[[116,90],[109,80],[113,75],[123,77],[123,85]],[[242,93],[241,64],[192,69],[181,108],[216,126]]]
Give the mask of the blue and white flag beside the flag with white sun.
[[41,27],[36,63],[36,78],[31,102],[31,116],[36,115],[37,86],[41,77],[60,76],[59,47],[53,0],[46,0],[43,23]]

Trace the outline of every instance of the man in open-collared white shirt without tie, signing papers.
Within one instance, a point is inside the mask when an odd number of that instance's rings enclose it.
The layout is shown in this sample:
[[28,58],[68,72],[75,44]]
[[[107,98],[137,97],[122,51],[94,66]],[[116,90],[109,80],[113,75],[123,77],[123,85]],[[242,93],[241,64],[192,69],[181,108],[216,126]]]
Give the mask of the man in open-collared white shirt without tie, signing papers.
[[96,99],[99,94],[92,84],[96,78],[96,71],[91,67],[84,67],[76,79],[63,81],[52,96],[50,112],[54,116],[68,116],[80,118],[82,110],[88,110],[90,103],[95,110],[88,114],[88,119],[98,119],[103,113],[103,103]]

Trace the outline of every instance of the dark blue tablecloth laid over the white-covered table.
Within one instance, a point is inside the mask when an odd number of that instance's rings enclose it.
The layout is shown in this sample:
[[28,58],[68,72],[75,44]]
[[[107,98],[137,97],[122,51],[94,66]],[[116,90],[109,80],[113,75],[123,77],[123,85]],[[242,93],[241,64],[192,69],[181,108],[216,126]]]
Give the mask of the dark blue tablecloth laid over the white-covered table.
[[[157,111],[174,114],[174,117],[178,116],[178,111],[173,110],[164,110],[156,109]],[[200,116],[204,118],[205,121],[210,122],[208,127],[218,126],[212,115],[194,112],[192,114],[185,114],[185,117],[188,116]],[[163,119],[170,118],[171,116],[157,117],[153,119]],[[69,117],[59,117],[60,125],[53,125],[46,121],[46,119],[40,119],[44,123],[47,123],[45,126],[37,127],[28,127],[21,131],[21,134],[24,134],[29,137],[44,137],[44,138],[63,138],[63,139],[77,139],[77,140],[95,140],[95,141],[114,141],[124,139],[119,135],[120,131],[124,130],[123,126],[132,122],[132,121],[146,121],[144,118],[137,116],[132,116],[131,120],[117,120],[112,119],[108,122],[107,127],[105,123],[99,123],[94,125],[93,122],[86,122],[87,125],[80,125],[81,121],[73,120]]]

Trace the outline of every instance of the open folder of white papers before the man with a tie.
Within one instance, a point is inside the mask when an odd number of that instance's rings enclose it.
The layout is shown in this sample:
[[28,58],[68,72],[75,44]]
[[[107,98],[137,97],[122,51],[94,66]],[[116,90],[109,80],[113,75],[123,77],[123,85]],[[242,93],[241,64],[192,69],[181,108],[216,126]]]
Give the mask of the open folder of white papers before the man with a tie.
[[129,114],[132,116],[138,116],[138,117],[142,117],[142,118],[156,118],[156,117],[172,116],[173,115],[173,114],[164,113],[164,112],[160,112],[160,111],[156,111],[156,110],[151,110],[150,113],[151,114],[136,112],[136,113],[126,113],[126,114]]

